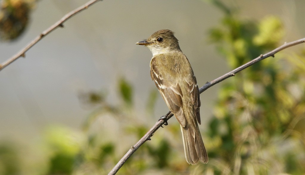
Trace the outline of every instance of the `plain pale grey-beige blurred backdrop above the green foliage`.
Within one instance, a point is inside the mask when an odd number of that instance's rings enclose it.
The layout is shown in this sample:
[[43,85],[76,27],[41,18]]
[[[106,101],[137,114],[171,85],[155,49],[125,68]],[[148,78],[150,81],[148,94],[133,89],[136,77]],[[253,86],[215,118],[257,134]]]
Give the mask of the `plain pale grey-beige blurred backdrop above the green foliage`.
[[[0,62],[16,54],[40,32],[87,0],[39,1],[25,33],[15,42],[0,42]],[[287,31],[283,42],[305,36],[305,1],[227,1],[244,19],[280,17]],[[175,32],[188,57],[198,85],[229,71],[225,60],[207,42],[208,29],[219,24],[222,12],[207,1],[104,0],[64,23],[20,58],[0,71],[0,141],[30,142],[48,125],[80,129],[92,109],[78,99],[80,92],[107,90],[116,104],[117,79],[134,87],[137,111],[143,112],[148,93],[156,88],[150,78],[148,49],[135,45],[160,29]],[[262,53],[264,54],[264,53]],[[201,94],[204,130],[217,98],[213,86]],[[159,96],[151,126],[168,108]],[[174,120],[172,120],[174,121]],[[177,123],[176,123],[177,124]]]

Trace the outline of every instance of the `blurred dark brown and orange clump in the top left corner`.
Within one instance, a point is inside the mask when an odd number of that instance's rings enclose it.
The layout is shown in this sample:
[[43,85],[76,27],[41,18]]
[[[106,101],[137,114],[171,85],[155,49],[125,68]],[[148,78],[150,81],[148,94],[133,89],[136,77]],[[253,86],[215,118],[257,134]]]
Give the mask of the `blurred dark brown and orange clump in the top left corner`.
[[35,0],[0,1],[0,41],[14,41],[26,29]]

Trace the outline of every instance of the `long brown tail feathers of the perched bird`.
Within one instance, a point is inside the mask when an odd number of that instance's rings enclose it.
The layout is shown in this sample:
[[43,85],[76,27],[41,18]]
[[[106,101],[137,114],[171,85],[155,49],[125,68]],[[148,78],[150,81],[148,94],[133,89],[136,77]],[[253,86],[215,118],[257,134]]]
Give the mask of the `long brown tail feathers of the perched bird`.
[[204,147],[197,122],[195,127],[189,125],[181,126],[182,139],[184,145],[185,159],[189,164],[196,164],[198,161],[207,163],[208,156]]

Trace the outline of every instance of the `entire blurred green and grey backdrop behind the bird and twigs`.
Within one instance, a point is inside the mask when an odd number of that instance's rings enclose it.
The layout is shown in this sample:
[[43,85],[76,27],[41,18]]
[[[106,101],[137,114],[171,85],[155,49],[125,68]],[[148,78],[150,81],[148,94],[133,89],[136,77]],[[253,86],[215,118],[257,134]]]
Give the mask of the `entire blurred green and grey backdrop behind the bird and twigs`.
[[[0,1],[0,63],[86,0]],[[305,1],[101,1],[0,71],[0,174],[106,174],[168,108],[136,42],[170,29],[198,85],[305,36]],[[185,161],[178,122],[118,174],[304,174],[305,47],[201,94],[209,163]]]

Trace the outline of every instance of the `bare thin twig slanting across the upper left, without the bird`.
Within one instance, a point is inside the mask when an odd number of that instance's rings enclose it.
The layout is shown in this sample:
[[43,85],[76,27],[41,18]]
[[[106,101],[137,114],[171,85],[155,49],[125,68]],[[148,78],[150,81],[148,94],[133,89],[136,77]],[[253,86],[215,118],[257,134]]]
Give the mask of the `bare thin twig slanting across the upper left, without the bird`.
[[89,6],[93,5],[94,3],[101,1],[101,0],[91,0],[87,2],[86,4],[78,7],[77,9],[67,13],[65,16],[63,16],[59,21],[57,21],[55,24],[53,24],[51,27],[49,27],[47,30],[43,31],[40,35],[38,35],[36,38],[34,38],[27,46],[25,46],[22,50],[20,50],[16,55],[9,58],[2,64],[0,64],[0,71],[8,66],[9,64],[13,63],[13,61],[17,60],[20,57],[25,57],[25,53],[28,49],[33,47],[38,41],[40,41],[45,35],[48,35],[50,32],[55,30],[57,27],[63,27],[63,23],[70,19],[72,16],[76,15],[77,13],[83,11],[84,9],[88,9]]

